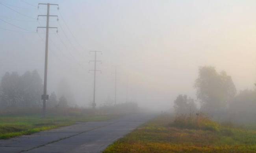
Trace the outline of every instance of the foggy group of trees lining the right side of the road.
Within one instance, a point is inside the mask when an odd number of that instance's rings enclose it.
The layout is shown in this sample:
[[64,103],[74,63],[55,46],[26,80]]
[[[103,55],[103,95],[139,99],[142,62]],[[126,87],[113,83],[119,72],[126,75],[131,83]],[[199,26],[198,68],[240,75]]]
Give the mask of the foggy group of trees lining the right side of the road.
[[218,73],[212,66],[200,67],[194,88],[200,107],[186,95],[178,95],[174,100],[176,113],[200,111],[220,120],[256,121],[256,90],[242,90],[237,94],[232,77],[225,71]]

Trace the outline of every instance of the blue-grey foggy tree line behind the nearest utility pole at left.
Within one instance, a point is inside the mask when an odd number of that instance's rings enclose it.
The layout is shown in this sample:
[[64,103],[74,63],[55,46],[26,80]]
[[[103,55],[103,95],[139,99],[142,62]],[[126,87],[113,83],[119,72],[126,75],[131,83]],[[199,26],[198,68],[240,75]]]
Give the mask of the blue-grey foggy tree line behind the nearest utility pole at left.
[[[22,76],[17,72],[6,72],[0,83],[0,109],[41,107],[43,81],[36,70],[27,71]],[[67,99],[52,92],[47,107],[68,107]]]

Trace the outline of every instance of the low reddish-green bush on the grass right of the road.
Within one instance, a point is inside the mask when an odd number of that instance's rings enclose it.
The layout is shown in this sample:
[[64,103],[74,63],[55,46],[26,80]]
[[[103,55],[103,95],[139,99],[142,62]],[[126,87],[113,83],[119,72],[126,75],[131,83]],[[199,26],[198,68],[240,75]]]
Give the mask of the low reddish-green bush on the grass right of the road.
[[202,129],[210,131],[220,130],[220,125],[217,122],[210,120],[210,118],[208,118],[204,114],[177,115],[171,126],[186,129]]

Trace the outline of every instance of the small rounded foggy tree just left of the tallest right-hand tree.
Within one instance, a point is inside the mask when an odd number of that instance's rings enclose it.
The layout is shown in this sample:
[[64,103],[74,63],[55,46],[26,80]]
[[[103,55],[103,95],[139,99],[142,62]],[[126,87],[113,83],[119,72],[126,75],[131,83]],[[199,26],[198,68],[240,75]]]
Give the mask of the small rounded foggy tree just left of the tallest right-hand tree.
[[174,100],[174,110],[178,114],[187,114],[197,111],[197,106],[192,98],[187,98],[187,95],[178,95]]

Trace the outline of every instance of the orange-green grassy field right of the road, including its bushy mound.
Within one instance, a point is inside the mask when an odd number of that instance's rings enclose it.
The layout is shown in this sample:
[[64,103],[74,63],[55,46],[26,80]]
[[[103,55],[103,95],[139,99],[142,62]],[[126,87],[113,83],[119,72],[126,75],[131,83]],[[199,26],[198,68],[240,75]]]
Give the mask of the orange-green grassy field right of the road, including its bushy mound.
[[255,153],[256,130],[203,115],[162,114],[110,145],[104,153]]

